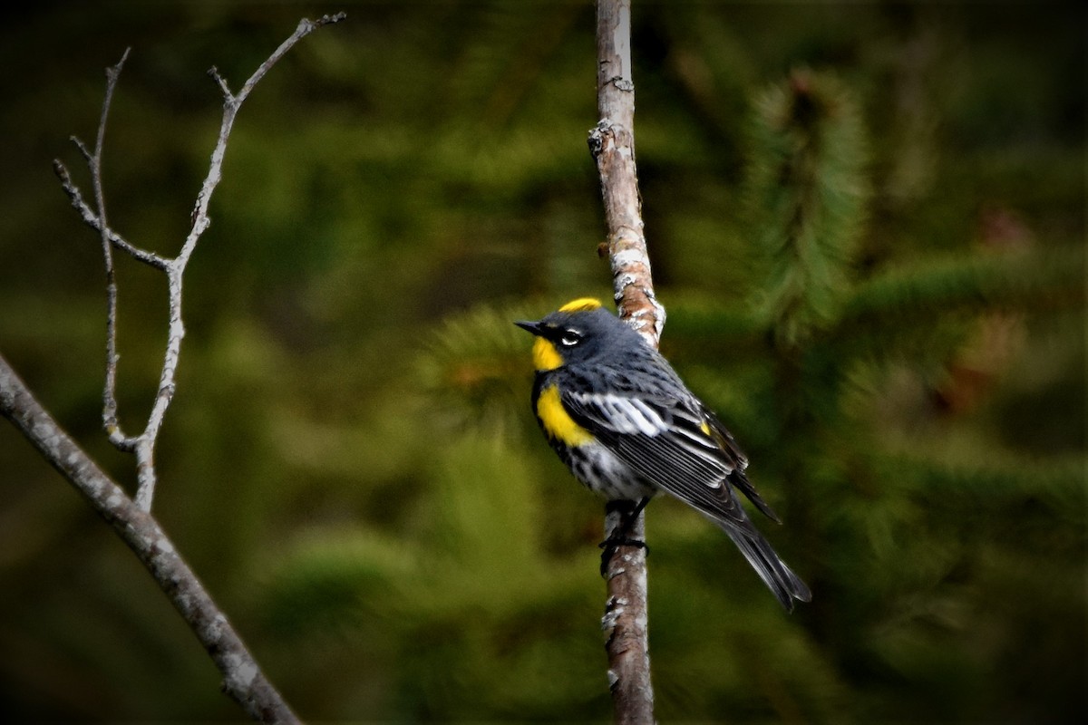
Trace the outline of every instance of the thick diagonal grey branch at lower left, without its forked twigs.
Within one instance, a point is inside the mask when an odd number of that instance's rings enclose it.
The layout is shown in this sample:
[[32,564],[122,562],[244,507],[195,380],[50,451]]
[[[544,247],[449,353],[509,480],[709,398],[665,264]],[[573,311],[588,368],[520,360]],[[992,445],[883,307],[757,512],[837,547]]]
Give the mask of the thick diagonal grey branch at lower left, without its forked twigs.
[[0,415],[87,499],[136,554],[223,673],[223,690],[250,717],[267,723],[297,723],[215,607],[193,570],[149,513],[137,507],[41,408],[8,361],[0,355]]

